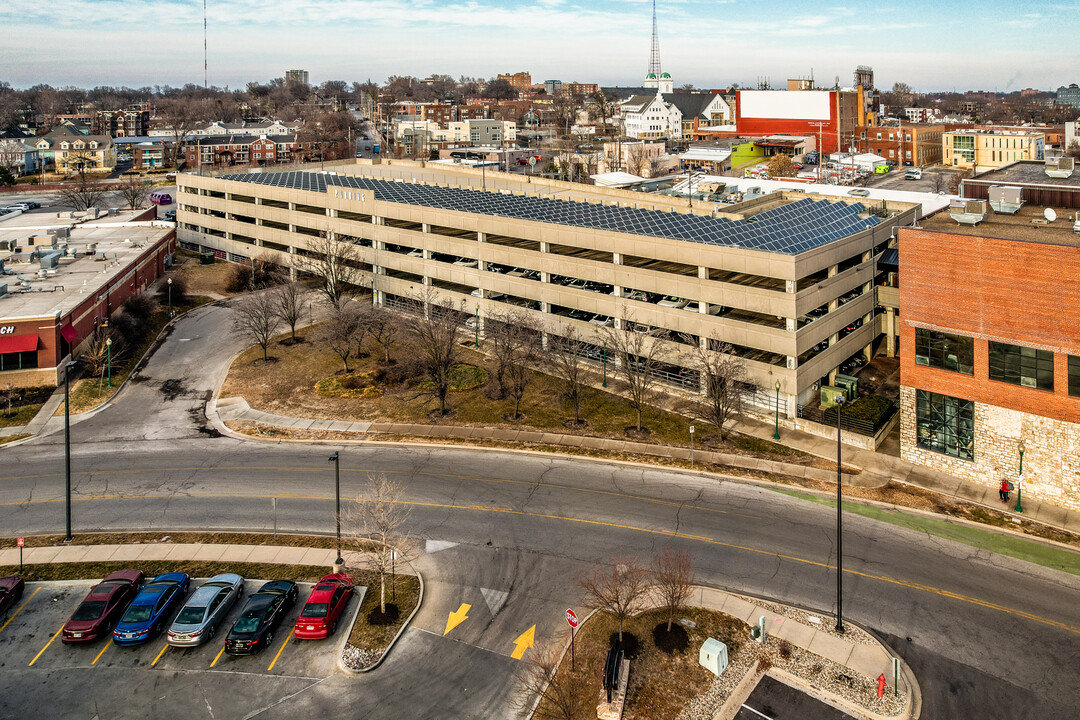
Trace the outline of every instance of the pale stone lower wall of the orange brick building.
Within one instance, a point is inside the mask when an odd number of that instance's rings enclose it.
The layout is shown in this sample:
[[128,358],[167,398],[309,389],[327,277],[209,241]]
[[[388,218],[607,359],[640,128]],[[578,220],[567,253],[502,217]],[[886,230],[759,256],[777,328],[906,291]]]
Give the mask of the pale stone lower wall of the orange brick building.
[[[975,403],[975,460],[916,445],[915,389],[900,389],[900,457],[991,489],[1020,475],[1024,440],[1024,497],[1080,511],[1080,424]],[[1015,494],[1013,495],[1015,499]]]

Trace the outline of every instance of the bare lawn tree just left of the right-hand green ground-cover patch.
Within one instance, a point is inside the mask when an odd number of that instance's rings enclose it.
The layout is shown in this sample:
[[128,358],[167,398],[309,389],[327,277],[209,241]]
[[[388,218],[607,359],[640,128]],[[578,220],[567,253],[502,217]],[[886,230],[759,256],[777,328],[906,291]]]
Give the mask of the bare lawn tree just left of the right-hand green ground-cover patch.
[[464,313],[444,301],[431,288],[411,303],[418,317],[409,331],[428,376],[428,382],[419,385],[420,394],[436,400],[440,415],[445,416],[450,372],[458,364],[458,340]]

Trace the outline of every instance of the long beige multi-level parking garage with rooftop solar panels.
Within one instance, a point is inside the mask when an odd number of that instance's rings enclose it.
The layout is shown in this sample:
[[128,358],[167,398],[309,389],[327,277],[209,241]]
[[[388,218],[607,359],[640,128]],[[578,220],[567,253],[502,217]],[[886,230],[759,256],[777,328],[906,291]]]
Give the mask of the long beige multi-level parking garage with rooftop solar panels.
[[[392,164],[337,174],[178,178],[178,237],[192,249],[283,264],[327,235],[356,246],[381,302],[433,288],[483,320],[517,305],[550,332],[633,322],[666,335],[665,381],[700,378],[692,348],[729,343],[750,400],[796,413],[880,332],[875,258],[916,206],[774,193],[743,205],[488,172]],[[348,173],[348,174],[346,174]],[[597,350],[598,357],[598,350]],[[756,398],[756,399],[755,399]]]

